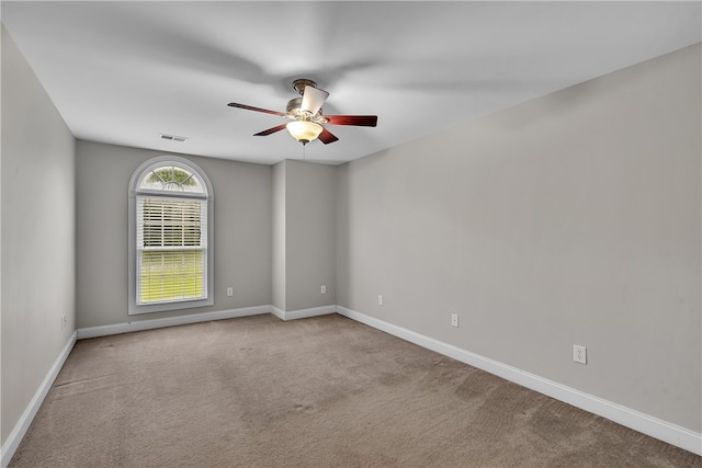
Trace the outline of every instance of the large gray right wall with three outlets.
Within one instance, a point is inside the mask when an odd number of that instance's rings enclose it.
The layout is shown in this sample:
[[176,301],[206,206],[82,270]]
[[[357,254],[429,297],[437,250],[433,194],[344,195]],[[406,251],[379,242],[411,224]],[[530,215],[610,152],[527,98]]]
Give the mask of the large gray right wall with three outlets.
[[700,55],[339,168],[338,304],[699,433]]

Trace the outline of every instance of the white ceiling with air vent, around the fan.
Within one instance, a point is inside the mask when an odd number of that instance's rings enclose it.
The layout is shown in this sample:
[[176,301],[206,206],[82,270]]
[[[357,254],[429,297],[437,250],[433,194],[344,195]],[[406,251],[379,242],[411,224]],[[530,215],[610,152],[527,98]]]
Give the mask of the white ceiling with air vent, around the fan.
[[[1,19],[77,138],[264,164],[302,158],[296,78],[330,92],[341,163],[701,41],[688,2],[11,2]],[[159,134],[186,136],[167,141]]]

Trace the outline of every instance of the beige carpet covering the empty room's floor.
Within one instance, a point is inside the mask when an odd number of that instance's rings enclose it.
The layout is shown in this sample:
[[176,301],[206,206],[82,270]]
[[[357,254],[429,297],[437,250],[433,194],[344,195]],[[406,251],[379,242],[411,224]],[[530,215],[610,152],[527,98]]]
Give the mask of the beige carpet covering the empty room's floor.
[[20,467],[699,467],[340,316],[79,341]]

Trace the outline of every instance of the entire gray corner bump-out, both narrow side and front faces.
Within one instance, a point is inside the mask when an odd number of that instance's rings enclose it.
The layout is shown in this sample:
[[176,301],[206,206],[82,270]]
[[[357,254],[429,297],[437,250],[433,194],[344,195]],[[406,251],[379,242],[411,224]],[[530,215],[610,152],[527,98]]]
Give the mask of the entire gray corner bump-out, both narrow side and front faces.
[[336,168],[275,164],[273,204],[273,306],[295,311],[336,305]]

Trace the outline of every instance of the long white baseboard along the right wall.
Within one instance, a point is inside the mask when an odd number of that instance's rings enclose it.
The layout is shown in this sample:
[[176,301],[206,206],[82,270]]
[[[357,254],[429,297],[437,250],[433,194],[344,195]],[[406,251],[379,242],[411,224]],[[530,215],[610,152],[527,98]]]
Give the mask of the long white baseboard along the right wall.
[[471,353],[469,351],[424,336],[411,330],[369,317],[355,310],[347,309],[346,307],[337,306],[337,313],[486,370],[540,393],[555,398],[556,400],[573,404],[574,407],[610,421],[614,421],[615,423],[658,438],[676,447],[702,455],[702,434],[508,366],[488,357],[480,356],[479,354]]

